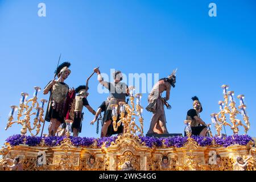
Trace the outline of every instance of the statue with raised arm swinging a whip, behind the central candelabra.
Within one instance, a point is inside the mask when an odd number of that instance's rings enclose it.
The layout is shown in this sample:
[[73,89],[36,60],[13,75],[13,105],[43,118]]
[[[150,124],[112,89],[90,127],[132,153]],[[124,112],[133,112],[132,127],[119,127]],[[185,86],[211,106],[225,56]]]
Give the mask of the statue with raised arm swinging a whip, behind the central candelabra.
[[[106,137],[106,134],[108,132],[108,127],[110,126],[110,129],[113,130],[113,119],[112,119],[112,104],[119,104],[119,102],[125,102],[126,97],[129,96],[129,88],[128,86],[124,83],[121,82],[122,81],[122,73],[121,71],[115,71],[113,73],[113,78],[114,78],[114,82],[107,82],[104,81],[102,76],[101,76],[101,72],[98,68],[94,69],[94,72],[97,73],[98,75],[98,81],[100,82],[101,85],[105,86],[106,89],[109,90],[110,92],[110,103],[108,105],[108,108],[106,109],[106,114],[105,117],[103,119],[104,121],[104,125],[101,128],[101,137]],[[119,108],[118,108],[118,113],[119,112]],[[119,119],[119,114],[118,117]],[[120,125],[118,127],[118,134],[121,134],[123,130],[123,126]],[[110,135],[112,134],[117,134],[113,132],[110,133]]]

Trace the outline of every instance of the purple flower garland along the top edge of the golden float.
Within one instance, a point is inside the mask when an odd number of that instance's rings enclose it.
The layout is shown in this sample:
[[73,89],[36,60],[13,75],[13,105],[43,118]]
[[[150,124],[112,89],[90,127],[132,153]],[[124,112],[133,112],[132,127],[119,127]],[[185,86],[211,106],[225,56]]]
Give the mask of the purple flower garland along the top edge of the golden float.
[[[59,146],[65,137],[31,137],[22,135],[13,135],[6,139],[6,142],[11,146],[18,146],[19,144],[27,144],[28,146],[38,146],[43,140],[44,144],[48,147]],[[105,147],[109,147],[112,142],[115,142],[117,137],[103,137],[103,138],[86,138],[86,137],[69,137],[71,143],[75,147],[89,147],[95,142],[97,147],[102,147],[105,143]],[[232,135],[228,137],[199,137],[192,136],[199,146],[217,146],[228,147],[232,144],[239,144],[246,146],[247,143],[253,141],[248,135]],[[141,144],[144,143],[149,148],[154,147],[183,147],[187,143],[188,137],[167,137],[167,138],[155,138],[140,136]]]

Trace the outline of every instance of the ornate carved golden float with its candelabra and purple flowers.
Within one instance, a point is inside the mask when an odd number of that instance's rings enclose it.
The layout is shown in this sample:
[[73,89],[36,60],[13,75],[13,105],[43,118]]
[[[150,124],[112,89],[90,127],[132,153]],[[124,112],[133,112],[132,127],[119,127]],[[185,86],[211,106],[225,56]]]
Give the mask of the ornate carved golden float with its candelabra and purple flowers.
[[[38,106],[37,92],[31,100],[32,106],[28,103],[24,104],[22,98],[19,111],[18,121],[22,125],[20,135],[17,135],[15,142],[18,144],[7,142],[0,150],[0,170],[10,170],[11,166],[15,166],[14,159],[19,158],[19,164],[23,170],[27,171],[42,171],[42,170],[76,170],[76,171],[116,171],[131,168],[141,171],[232,171],[238,170],[237,158],[241,157],[244,160],[247,158],[246,169],[249,171],[256,170],[256,150],[254,147],[255,139],[250,139],[247,135],[237,135],[238,126],[245,129],[245,133],[250,128],[249,117],[245,113],[245,104],[243,96],[238,96],[241,105],[238,107],[242,110],[245,125],[241,120],[236,119],[236,115],[240,113],[236,109],[236,104],[233,98],[233,92],[227,93],[228,86],[223,86],[225,89],[224,102],[219,102],[221,111],[218,114],[212,114],[212,121],[217,131],[216,137],[195,138],[191,136],[190,122],[185,121],[187,127],[187,137],[174,138],[150,138],[143,137],[143,118],[141,106],[141,94],[131,93],[131,106],[125,102],[118,105],[113,105],[113,126],[124,126],[124,133],[118,137],[113,137],[111,140],[106,139],[90,139],[89,144],[81,144],[81,138],[70,137],[69,131],[66,136],[57,142],[57,138],[51,139],[47,137],[36,138],[31,131],[36,129],[36,134],[39,133],[40,122],[43,121],[43,105],[46,103],[42,100],[42,106]],[[230,96],[230,105],[228,106],[228,97]],[[27,96],[27,94],[26,94]],[[22,97],[26,97],[22,94]],[[137,105],[134,104],[134,98],[137,98]],[[120,107],[121,118],[117,121],[117,107]],[[17,106],[11,106],[12,111],[9,117],[7,127],[13,125],[14,110]],[[230,108],[230,109],[229,109]],[[26,112],[22,114],[23,110]],[[30,125],[31,110],[36,109],[38,113],[34,119],[34,126]],[[125,112],[127,114],[125,114]],[[225,114],[230,115],[228,123]],[[25,115],[24,119],[20,119]],[[136,119],[139,118],[138,125]],[[234,135],[229,137],[221,137],[222,126],[230,126]],[[39,128],[39,129],[38,129]],[[32,137],[26,137],[26,131],[30,131]],[[34,138],[33,138],[34,137]],[[230,142],[226,145],[218,142],[218,138],[222,141]],[[36,140],[37,143],[31,145],[28,140]],[[201,139],[201,140],[200,140]],[[76,144],[76,140],[80,140],[80,144]],[[152,140],[152,141],[151,141]],[[230,141],[228,141],[230,140]],[[245,142],[246,140],[246,142]],[[172,141],[172,142],[171,142]],[[151,143],[150,143],[151,142]],[[176,142],[176,143],[175,143]],[[208,142],[207,144],[205,144]],[[220,156],[220,159],[217,159]],[[129,166],[130,165],[130,166]]]

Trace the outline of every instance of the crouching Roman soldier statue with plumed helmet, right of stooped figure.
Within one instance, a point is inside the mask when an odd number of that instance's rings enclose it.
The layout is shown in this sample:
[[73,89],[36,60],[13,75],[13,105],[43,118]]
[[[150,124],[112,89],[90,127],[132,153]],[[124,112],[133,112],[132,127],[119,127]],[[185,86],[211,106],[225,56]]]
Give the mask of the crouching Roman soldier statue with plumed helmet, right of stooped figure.
[[191,120],[192,135],[205,137],[208,131],[208,125],[200,118],[199,114],[203,111],[203,107],[198,97],[194,96],[192,100],[193,109],[188,110],[186,120]]

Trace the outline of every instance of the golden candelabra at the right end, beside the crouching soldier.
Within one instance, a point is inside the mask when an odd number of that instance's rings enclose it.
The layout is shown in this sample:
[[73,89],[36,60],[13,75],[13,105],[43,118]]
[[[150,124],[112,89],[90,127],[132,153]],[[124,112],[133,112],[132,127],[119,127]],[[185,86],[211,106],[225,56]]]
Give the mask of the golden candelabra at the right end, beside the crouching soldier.
[[[240,100],[240,106],[238,106],[238,109],[236,107],[236,101],[234,98],[234,92],[229,91],[228,92],[228,85],[222,85],[221,88],[223,89],[223,97],[224,101],[219,101],[218,105],[220,105],[220,112],[219,113],[213,113],[211,114],[212,123],[214,124],[214,127],[217,131],[217,135],[221,136],[221,130],[222,126],[230,126],[230,128],[233,130],[234,134],[238,134],[239,128],[238,126],[242,126],[245,129],[245,134],[250,129],[250,122],[249,117],[246,114],[246,105],[244,102],[245,96],[239,95],[237,98]],[[237,114],[241,114],[243,117],[243,121],[245,122],[245,125],[242,123],[240,119],[237,119]],[[229,120],[231,124],[227,121],[227,116],[229,115]]]

